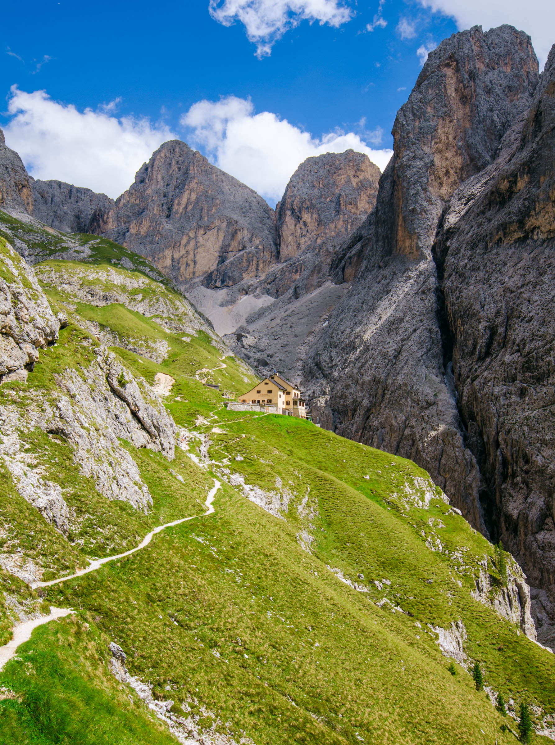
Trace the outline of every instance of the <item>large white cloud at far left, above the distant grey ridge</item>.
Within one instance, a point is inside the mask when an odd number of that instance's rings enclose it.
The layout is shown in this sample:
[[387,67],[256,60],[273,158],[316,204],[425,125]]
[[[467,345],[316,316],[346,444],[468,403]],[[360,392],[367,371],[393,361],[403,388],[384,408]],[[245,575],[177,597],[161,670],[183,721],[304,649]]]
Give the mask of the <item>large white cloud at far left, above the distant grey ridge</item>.
[[52,101],[45,91],[26,93],[12,86],[6,143],[34,178],[58,179],[115,198],[133,183],[153,150],[175,135],[146,118],[118,118],[114,108],[80,112]]

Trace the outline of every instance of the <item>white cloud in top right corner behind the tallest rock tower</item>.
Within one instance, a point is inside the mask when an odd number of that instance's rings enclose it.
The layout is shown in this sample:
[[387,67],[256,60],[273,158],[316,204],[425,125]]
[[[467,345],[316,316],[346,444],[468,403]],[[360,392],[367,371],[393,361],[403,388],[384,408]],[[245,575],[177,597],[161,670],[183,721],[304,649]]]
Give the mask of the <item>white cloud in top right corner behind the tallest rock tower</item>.
[[480,24],[484,31],[504,23],[526,31],[541,66],[555,42],[555,3],[553,0],[420,0],[424,7],[451,16],[457,27]]

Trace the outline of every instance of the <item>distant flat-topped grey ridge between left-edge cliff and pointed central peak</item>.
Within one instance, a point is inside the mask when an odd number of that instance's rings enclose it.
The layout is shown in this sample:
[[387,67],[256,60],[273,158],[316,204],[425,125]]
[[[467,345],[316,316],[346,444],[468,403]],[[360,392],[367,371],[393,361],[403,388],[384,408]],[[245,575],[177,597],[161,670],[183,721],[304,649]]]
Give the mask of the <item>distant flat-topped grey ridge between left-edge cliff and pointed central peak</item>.
[[34,218],[63,232],[92,232],[99,215],[106,214],[114,200],[106,194],[95,194],[89,188],[72,186],[63,181],[33,182]]

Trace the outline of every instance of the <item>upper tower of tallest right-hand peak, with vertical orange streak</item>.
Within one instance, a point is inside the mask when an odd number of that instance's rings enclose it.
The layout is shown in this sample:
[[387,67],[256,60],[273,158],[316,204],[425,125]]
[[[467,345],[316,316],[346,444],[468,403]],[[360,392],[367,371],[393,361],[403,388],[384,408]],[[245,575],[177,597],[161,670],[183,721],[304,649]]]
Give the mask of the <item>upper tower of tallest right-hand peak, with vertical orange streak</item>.
[[393,124],[375,223],[384,253],[429,256],[445,202],[492,162],[538,78],[530,37],[512,26],[475,26],[430,52]]

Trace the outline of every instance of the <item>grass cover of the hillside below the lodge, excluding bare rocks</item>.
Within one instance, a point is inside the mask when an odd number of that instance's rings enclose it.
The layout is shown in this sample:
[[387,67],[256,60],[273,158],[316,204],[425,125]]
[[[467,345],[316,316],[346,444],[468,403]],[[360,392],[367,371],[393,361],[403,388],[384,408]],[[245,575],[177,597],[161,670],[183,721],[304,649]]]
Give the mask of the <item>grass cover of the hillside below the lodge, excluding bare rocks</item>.
[[[161,333],[156,323],[121,305],[79,310],[114,330],[133,323],[134,332],[145,337]],[[443,501],[432,500],[429,510],[407,510],[396,496],[405,481],[423,475],[421,469],[308,422],[227,412],[221,394],[203,387],[195,373],[212,370],[215,382],[239,393],[244,368],[229,358],[220,367],[221,352],[206,337],[185,343],[163,334],[171,353],[161,365],[115,351],[149,381],[157,372],[175,378],[168,408],[178,425],[210,434],[212,460],[266,491],[276,490],[281,479],[291,492],[285,519],[224,484],[209,518],[165,531],[145,551],[48,589],[45,599],[72,605],[77,621],[37,630],[20,650],[21,659],[1,673],[0,685],[18,698],[0,702],[0,741],[173,741],[107,673],[106,644],[112,640],[126,651],[130,672],[150,680],[155,696],[175,700],[175,711],[188,702],[206,727],[214,722],[206,711],[215,712],[218,729],[237,741],[243,734],[257,745],[513,741],[501,731],[507,720],[483,691],[474,690],[469,674],[458,667],[456,676],[448,673],[437,635],[426,625],[447,628],[459,619],[469,633],[466,651],[480,660],[486,684],[506,699],[533,700],[552,711],[553,656],[470,597],[476,561],[483,554],[492,557],[491,547],[463,519],[447,515]],[[91,343],[70,325],[57,346],[41,353],[26,387],[0,388],[0,405],[4,398],[24,407],[37,391],[47,396],[60,367],[88,363]],[[221,431],[212,432],[215,425]],[[58,574],[86,555],[133,545],[153,524],[199,514],[212,484],[210,473],[179,449],[169,466],[158,454],[130,448],[154,498],[150,515],[139,516],[106,501],[69,468],[63,442],[40,431],[28,442],[72,507],[95,517],[80,536],[70,536],[73,543],[66,542],[18,497],[0,462],[6,494],[0,510],[12,531],[2,551],[29,543],[30,555],[45,557]],[[296,537],[308,529],[306,508],[314,513],[311,553]],[[426,547],[430,519],[445,524],[435,533],[448,554]],[[95,540],[99,524],[108,538],[104,545]],[[461,547],[466,550],[458,561]],[[326,565],[370,592],[341,583]],[[391,584],[378,592],[372,580],[384,578]],[[412,615],[392,612],[387,603],[379,608],[375,603],[383,597]]]

